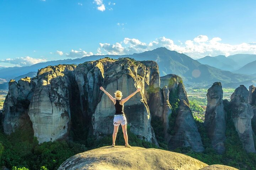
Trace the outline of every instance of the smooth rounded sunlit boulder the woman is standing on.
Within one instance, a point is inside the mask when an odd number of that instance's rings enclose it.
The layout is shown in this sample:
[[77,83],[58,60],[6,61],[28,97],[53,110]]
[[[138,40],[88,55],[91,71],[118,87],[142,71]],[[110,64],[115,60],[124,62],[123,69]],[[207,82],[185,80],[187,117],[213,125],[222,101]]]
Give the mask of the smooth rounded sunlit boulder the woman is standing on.
[[74,155],[62,163],[58,170],[198,170],[205,166],[208,165],[181,153],[153,148],[106,146]]

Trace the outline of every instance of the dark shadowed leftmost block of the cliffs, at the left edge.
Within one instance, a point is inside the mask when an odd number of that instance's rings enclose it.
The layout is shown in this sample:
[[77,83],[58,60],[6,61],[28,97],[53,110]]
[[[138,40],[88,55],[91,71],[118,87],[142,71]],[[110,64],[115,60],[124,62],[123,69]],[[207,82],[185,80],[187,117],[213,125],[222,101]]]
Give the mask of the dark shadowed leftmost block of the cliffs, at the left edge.
[[28,117],[28,105],[32,95],[31,89],[34,86],[35,83],[29,77],[22,78],[18,82],[10,80],[9,92],[5,98],[2,111],[2,125],[5,134],[10,134],[26,125],[31,126]]

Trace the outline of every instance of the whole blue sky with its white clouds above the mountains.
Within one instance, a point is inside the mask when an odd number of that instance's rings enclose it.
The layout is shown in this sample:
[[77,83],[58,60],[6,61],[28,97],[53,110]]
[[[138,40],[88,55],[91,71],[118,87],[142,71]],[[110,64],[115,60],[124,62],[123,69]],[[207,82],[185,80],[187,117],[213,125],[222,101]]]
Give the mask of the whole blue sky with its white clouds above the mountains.
[[0,66],[165,46],[256,54],[255,0],[0,0]]

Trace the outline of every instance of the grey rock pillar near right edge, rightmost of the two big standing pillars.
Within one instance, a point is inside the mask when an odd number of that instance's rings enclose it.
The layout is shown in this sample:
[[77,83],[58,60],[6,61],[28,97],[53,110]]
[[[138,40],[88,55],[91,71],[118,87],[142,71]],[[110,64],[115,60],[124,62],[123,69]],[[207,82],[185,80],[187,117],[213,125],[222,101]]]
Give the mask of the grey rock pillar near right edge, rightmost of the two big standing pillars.
[[231,108],[231,117],[245,151],[255,153],[251,126],[251,119],[253,118],[254,113],[251,105],[247,103],[243,94],[244,93],[235,95],[230,101],[229,107]]

